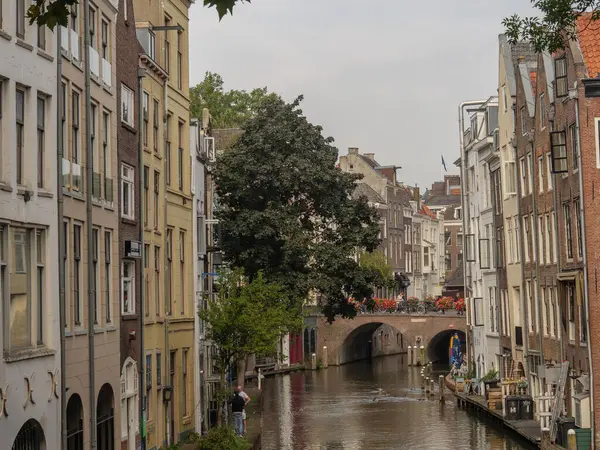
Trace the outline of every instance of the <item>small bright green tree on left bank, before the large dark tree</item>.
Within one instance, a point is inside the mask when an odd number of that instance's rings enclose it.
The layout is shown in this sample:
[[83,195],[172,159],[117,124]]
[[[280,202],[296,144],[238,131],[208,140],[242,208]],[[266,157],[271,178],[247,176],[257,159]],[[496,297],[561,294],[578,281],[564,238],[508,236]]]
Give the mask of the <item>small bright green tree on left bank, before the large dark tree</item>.
[[261,272],[248,280],[241,269],[225,271],[217,283],[216,299],[199,315],[208,324],[207,339],[215,344],[213,362],[220,374],[220,424],[227,396],[226,375],[236,361],[250,355],[276,355],[278,338],[299,329],[302,316],[300,311],[289,309],[282,301],[282,288],[268,283]]

